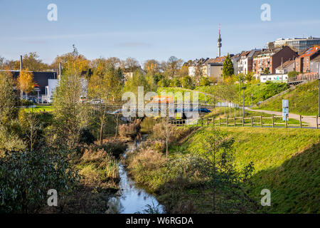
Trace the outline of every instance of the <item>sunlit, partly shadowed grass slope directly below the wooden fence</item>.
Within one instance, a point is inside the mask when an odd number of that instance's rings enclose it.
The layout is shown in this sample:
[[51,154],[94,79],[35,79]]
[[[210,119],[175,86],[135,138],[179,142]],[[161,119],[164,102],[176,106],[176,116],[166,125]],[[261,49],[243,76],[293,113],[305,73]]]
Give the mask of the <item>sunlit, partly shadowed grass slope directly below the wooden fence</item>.
[[[262,189],[272,194],[272,206],[261,212],[319,213],[320,132],[298,129],[221,128],[235,139],[235,166],[255,165],[254,185],[247,187],[260,199]],[[201,152],[210,128],[201,128],[181,147]],[[257,202],[259,203],[259,202]]]

